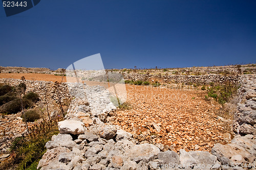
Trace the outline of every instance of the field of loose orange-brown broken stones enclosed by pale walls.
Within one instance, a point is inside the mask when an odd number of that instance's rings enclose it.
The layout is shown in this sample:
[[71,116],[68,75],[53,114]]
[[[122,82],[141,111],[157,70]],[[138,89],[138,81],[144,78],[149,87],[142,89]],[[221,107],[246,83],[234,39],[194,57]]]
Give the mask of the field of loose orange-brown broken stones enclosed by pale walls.
[[136,85],[126,85],[126,90],[131,106],[116,110],[112,122],[139,141],[167,144],[173,151],[210,151],[224,142],[229,129],[218,119],[222,106],[206,101],[205,91]]

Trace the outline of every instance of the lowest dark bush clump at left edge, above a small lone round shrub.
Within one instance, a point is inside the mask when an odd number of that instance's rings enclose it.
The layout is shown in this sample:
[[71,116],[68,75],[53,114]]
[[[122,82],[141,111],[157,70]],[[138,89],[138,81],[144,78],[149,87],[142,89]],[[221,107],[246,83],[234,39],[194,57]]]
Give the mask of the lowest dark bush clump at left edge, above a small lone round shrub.
[[[28,99],[23,99],[23,108],[27,109],[33,106],[33,103]],[[15,99],[1,106],[0,111],[4,114],[12,114],[22,111],[22,103],[20,99]]]

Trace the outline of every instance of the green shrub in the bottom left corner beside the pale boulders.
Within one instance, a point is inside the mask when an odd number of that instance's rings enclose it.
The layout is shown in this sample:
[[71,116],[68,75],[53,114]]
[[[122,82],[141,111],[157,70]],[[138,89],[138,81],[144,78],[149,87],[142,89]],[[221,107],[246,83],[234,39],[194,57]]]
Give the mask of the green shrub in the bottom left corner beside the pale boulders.
[[15,138],[10,147],[13,159],[9,160],[4,169],[12,169],[8,165],[15,165],[16,169],[36,169],[38,161],[46,152],[46,142],[58,133],[56,122],[51,125],[42,122],[33,126],[28,136]]

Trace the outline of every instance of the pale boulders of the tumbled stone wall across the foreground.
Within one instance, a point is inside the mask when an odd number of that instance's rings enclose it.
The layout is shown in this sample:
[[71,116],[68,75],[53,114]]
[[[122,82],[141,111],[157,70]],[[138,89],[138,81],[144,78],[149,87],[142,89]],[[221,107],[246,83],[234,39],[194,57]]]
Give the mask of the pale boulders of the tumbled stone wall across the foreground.
[[[99,89],[102,90],[100,87],[94,88],[97,92]],[[91,114],[93,107],[88,107],[86,103],[86,99],[79,98],[72,103],[67,115],[69,119],[58,123],[60,134],[47,142],[48,150],[38,168],[255,169],[256,135],[237,135],[231,143],[215,144],[211,153],[186,152],[183,149],[177,153],[162,144],[139,142],[135,135],[122,130],[120,126],[104,124],[98,115]],[[102,103],[108,104],[109,100]],[[107,112],[111,113],[111,110]],[[154,128],[158,129],[157,126]]]

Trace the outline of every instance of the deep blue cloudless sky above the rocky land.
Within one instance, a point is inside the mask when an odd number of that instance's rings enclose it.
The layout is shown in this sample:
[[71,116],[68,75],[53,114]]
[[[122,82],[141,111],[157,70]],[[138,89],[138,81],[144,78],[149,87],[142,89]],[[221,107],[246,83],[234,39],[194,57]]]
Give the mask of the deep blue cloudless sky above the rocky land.
[[0,66],[66,68],[97,53],[105,68],[256,63],[256,1],[42,0],[6,17]]

